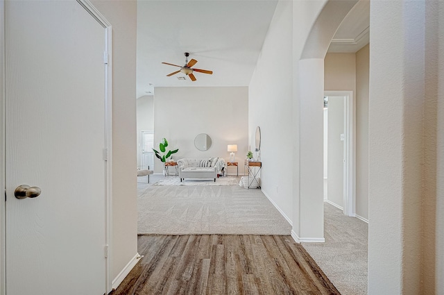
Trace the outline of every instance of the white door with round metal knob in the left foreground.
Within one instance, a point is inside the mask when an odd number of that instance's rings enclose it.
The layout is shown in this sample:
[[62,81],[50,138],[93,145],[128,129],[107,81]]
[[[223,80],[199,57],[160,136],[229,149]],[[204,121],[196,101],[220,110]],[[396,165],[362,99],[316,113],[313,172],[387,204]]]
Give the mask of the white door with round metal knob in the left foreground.
[[105,29],[74,0],[6,1],[5,21],[6,294],[102,295]]

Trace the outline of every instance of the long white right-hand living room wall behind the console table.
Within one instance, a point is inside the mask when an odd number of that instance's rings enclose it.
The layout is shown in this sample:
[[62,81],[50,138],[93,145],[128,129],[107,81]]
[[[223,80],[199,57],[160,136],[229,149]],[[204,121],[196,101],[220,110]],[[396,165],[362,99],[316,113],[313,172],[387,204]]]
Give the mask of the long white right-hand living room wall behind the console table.
[[[293,222],[292,5],[280,1],[250,82],[248,130],[261,128],[262,192]],[[280,173],[288,171],[287,173]]]

